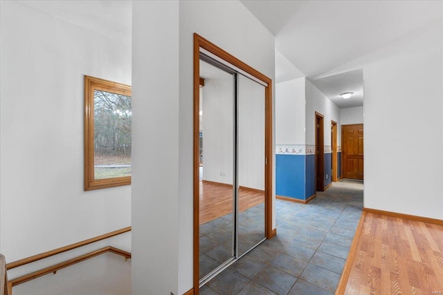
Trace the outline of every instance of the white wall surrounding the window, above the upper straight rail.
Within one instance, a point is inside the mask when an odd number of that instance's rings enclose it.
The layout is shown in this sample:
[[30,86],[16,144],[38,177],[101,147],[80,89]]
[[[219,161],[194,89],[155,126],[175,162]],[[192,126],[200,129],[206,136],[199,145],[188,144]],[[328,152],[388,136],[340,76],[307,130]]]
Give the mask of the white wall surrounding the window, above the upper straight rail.
[[131,84],[130,46],[17,1],[1,1],[0,27],[1,253],[131,225],[131,187],[83,191],[83,75]]

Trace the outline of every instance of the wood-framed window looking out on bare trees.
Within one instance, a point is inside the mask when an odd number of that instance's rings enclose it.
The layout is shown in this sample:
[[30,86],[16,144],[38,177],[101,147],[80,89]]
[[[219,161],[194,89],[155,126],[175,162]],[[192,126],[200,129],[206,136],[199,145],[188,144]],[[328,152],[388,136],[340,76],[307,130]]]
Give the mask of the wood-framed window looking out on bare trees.
[[84,190],[131,184],[131,86],[84,76]]

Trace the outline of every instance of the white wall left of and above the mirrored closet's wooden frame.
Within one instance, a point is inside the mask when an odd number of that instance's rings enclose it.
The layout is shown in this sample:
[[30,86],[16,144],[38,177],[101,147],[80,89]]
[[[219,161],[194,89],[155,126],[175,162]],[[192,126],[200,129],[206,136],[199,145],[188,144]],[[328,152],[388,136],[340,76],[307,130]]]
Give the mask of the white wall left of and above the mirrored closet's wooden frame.
[[[192,287],[192,34],[197,32],[272,79],[275,72],[275,46],[273,35],[239,1],[180,1],[179,25],[180,210],[178,231],[179,293],[183,293]],[[157,23],[153,26],[159,27]],[[275,214],[273,216],[275,218]],[[273,227],[275,227],[275,219]]]

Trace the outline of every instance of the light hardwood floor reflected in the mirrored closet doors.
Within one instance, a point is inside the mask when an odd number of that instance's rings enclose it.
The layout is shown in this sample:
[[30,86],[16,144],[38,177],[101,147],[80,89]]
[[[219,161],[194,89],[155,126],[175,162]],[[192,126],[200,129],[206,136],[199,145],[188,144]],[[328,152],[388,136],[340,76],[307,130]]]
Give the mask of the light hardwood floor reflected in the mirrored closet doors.
[[[239,211],[264,202],[264,193],[239,189]],[[233,211],[233,187],[230,184],[200,182],[200,225]]]

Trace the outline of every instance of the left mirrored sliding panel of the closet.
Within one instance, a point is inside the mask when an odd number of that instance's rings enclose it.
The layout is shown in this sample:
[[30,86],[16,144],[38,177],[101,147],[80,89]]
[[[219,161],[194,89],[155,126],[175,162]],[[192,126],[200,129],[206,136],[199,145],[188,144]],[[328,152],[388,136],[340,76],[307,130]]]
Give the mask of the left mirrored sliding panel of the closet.
[[233,250],[233,75],[200,61],[200,271],[213,272]]

